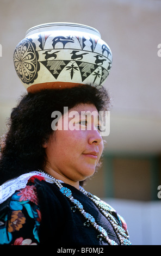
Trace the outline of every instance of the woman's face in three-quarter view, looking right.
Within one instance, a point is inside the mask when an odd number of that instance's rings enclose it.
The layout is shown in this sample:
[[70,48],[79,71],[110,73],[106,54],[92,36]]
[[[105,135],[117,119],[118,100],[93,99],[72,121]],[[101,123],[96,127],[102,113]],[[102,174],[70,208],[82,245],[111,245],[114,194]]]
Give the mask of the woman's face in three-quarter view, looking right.
[[92,104],[79,104],[64,114],[44,145],[46,172],[73,186],[94,174],[103,151],[98,125],[98,111]]

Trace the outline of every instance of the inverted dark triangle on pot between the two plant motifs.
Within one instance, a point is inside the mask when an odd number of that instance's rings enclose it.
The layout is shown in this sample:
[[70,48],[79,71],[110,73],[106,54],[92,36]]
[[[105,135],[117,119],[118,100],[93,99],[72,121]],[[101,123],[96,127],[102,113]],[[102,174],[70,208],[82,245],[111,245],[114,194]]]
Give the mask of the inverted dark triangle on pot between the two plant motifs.
[[98,65],[88,63],[88,62],[79,62],[76,60],[76,63],[79,67],[80,74],[82,76],[82,82],[98,68]]

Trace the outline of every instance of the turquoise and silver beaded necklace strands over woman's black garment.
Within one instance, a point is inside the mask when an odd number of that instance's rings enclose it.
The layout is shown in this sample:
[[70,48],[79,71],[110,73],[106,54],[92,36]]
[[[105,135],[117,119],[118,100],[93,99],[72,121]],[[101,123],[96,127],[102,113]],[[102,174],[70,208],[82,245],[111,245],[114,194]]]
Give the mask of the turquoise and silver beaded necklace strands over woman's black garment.
[[[117,245],[117,243],[114,240],[109,238],[107,231],[103,227],[101,227],[101,225],[98,225],[96,223],[95,218],[83,209],[83,205],[77,199],[73,198],[72,192],[69,188],[64,187],[59,180],[55,179],[53,176],[49,175],[48,173],[45,173],[40,169],[39,169],[39,171],[41,173],[47,174],[54,181],[54,183],[58,186],[60,192],[63,193],[64,196],[66,196],[70,200],[70,202],[74,205],[71,207],[73,212],[75,212],[76,209],[78,209],[80,214],[82,214],[85,217],[86,222],[84,223],[84,225],[89,226],[91,224],[98,231],[98,233],[100,233],[97,236],[98,239],[106,240],[109,245]],[[129,241],[129,237],[126,234],[126,231],[121,227],[121,225],[119,225],[117,223],[117,221],[113,217],[109,205],[107,203],[103,202],[100,198],[92,195],[89,192],[86,192],[84,190],[84,188],[82,188],[82,187],[79,188],[79,191],[81,191],[88,198],[90,198],[92,200],[92,202],[94,202],[94,204],[97,206],[97,208],[102,212],[102,214],[107,218],[107,220],[110,222],[110,224],[112,224],[112,227],[120,241],[120,244],[121,245],[131,245],[131,242]]]

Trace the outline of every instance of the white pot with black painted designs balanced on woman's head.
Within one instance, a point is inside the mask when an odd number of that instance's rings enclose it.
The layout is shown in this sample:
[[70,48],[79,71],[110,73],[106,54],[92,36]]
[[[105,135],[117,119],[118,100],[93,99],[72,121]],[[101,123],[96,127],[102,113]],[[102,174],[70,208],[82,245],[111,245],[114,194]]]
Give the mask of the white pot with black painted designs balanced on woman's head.
[[102,85],[112,52],[92,27],[46,23],[30,28],[14,51],[18,77],[28,92],[77,84]]

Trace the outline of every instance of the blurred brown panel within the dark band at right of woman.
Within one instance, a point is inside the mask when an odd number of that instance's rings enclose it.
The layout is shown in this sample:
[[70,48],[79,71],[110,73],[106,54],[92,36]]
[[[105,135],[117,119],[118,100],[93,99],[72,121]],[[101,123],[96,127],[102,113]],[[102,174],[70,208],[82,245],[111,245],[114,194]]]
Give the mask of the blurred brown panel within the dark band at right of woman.
[[114,197],[151,200],[151,162],[144,159],[114,159]]

